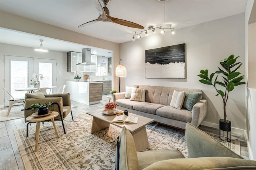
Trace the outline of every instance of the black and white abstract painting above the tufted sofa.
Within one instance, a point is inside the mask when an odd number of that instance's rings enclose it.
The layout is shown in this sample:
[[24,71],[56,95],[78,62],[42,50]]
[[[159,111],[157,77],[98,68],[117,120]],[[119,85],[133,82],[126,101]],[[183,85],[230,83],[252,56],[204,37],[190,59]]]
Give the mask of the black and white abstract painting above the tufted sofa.
[[185,78],[185,44],[145,51],[146,78]]

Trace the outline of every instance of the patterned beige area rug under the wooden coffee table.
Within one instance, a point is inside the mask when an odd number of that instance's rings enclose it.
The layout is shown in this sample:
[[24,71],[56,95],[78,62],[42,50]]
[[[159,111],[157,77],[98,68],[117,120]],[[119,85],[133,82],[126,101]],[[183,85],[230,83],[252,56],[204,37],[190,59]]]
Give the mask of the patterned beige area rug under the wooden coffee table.
[[[101,169],[115,168],[115,142],[121,129],[110,125],[109,128],[90,134],[92,117],[86,113],[64,120],[66,134],[60,121],[56,122],[60,138],[56,137],[51,122],[41,124],[38,152],[34,152],[35,125],[14,131],[16,141],[27,170],[48,169]],[[176,148],[187,156],[185,133],[182,130],[151,123],[146,126],[150,146],[147,150]],[[225,144],[234,150],[240,149],[239,142]],[[234,146],[235,145],[235,146]]]

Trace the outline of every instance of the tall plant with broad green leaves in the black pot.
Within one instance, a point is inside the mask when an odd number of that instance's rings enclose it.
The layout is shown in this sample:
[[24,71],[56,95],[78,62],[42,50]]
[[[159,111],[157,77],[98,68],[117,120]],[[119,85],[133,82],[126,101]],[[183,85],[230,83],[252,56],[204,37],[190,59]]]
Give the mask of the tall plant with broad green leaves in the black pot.
[[[240,72],[237,72],[238,68],[242,65],[242,62],[236,63],[236,58],[234,58],[234,55],[230,55],[228,58],[225,58],[220,61],[220,65],[222,68],[218,67],[218,71],[213,72],[210,74],[210,77],[208,77],[208,70],[200,70],[200,73],[198,76],[202,78],[199,80],[203,84],[212,85],[217,94],[216,96],[220,95],[223,101],[223,109],[224,109],[224,122],[226,122],[226,104],[228,101],[228,94],[229,92],[233,91],[235,86],[246,84],[245,82],[241,82],[241,80],[244,79],[244,76],[240,76]],[[216,78],[213,81],[213,78],[215,74],[218,74]],[[218,81],[218,76],[222,77],[222,82]],[[224,90],[220,90],[219,86],[222,86]]]

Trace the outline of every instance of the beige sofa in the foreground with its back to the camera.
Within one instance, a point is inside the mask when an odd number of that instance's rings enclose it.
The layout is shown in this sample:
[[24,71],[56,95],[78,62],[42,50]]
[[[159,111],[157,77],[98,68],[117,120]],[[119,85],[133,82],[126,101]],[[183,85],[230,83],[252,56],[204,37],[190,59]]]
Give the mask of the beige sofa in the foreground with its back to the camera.
[[116,170],[256,169],[255,160],[245,160],[190,123],[185,135],[188,158],[177,149],[136,152],[130,131],[123,127],[116,140]]

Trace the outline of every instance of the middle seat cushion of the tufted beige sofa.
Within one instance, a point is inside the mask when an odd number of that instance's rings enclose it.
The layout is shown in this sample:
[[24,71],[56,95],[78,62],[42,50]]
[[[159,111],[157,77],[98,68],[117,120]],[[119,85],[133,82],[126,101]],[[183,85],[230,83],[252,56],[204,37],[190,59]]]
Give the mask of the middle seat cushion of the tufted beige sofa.
[[156,115],[156,109],[159,109],[160,107],[164,107],[164,106],[165,105],[162,105],[162,104],[139,102],[133,105],[133,109]]

